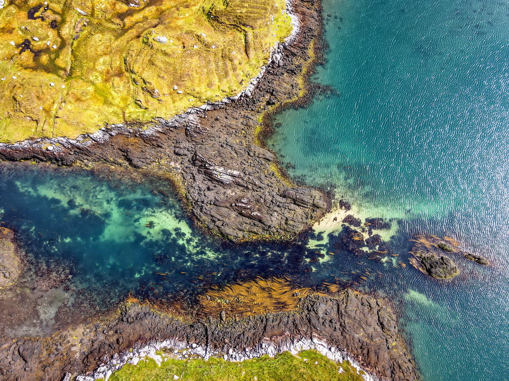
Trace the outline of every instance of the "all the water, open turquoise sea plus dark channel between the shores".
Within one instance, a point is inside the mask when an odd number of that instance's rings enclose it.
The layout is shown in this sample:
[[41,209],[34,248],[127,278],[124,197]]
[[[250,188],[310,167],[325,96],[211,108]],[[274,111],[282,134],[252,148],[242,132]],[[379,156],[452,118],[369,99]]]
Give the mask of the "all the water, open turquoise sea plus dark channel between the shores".
[[129,292],[192,301],[201,287],[258,275],[345,282],[394,301],[426,381],[509,379],[509,6],[325,0],[324,16],[330,50],[315,80],[338,95],[279,115],[271,148],[292,176],[394,218],[391,258],[408,264],[415,233],[446,234],[492,267],[460,261],[458,278],[438,282],[338,250],[334,234],[318,248],[335,252],[323,263],[305,240],[217,242],[167,184],[106,169],[2,163],[0,224],[49,268],[40,276],[72,275],[71,310],[107,309]]

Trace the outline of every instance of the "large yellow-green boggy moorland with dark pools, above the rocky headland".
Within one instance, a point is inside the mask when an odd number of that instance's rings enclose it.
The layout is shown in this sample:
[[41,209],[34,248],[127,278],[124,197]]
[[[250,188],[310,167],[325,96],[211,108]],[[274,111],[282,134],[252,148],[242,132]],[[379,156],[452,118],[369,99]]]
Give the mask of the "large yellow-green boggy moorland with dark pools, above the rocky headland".
[[6,0],[0,141],[171,118],[233,96],[291,33],[284,0]]

